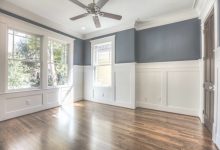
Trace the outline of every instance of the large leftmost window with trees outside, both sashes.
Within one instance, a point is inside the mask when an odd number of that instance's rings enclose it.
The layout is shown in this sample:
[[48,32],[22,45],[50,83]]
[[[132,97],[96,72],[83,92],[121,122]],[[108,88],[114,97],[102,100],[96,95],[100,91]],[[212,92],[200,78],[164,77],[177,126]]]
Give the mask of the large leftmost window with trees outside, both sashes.
[[8,30],[8,89],[40,87],[40,36]]

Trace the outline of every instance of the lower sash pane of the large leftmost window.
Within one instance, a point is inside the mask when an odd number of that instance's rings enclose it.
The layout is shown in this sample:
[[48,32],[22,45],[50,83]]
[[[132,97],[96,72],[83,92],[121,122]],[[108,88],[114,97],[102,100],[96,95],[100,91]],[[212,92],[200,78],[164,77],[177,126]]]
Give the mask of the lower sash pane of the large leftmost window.
[[40,63],[8,61],[8,89],[40,86]]

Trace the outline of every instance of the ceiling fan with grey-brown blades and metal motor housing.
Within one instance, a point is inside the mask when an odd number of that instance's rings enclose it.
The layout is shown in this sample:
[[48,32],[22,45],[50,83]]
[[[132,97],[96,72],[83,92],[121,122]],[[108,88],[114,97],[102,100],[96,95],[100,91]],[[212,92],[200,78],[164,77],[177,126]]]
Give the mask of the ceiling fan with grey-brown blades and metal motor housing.
[[122,19],[122,16],[120,16],[120,15],[111,14],[111,13],[101,11],[102,7],[109,0],[99,0],[97,3],[95,3],[95,0],[93,0],[93,2],[91,4],[89,4],[88,6],[84,5],[83,3],[81,3],[78,0],[70,0],[70,1],[87,11],[87,13],[84,13],[84,14],[81,14],[81,15],[70,18],[70,20],[72,20],[72,21],[83,18],[83,17],[86,17],[88,15],[92,15],[93,16],[93,21],[95,23],[96,28],[100,28],[101,23],[99,21],[99,16],[106,17],[106,18],[111,18],[111,19],[116,19],[116,20],[121,20]]

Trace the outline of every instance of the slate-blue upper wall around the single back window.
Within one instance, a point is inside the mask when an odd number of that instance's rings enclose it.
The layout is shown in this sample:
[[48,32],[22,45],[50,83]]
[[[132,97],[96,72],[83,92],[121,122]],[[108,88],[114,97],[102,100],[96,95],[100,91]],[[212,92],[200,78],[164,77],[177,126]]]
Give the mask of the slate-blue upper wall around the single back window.
[[84,41],[84,65],[91,65],[90,40],[115,35],[115,63],[135,62],[135,29],[128,29]]

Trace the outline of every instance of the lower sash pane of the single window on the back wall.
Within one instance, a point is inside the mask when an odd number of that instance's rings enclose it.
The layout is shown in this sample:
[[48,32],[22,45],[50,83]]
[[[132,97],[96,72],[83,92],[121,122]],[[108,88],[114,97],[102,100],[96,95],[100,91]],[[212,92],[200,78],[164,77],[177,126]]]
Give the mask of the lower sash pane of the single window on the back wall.
[[95,85],[111,86],[111,76],[112,76],[111,66],[96,66]]

